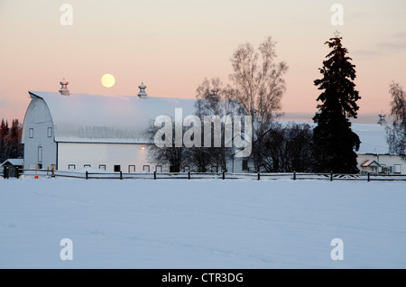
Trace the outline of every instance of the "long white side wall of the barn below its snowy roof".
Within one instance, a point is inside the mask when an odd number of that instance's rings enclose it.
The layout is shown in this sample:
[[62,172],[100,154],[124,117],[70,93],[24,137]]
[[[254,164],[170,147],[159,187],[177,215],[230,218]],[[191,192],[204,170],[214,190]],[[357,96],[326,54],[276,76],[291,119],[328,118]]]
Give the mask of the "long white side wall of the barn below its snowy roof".
[[128,172],[129,165],[135,165],[135,171],[143,171],[143,165],[155,171],[155,164],[148,162],[147,156],[147,144],[59,143],[58,169],[68,170],[69,164],[75,164],[76,169],[84,168],[85,164],[98,169],[104,164],[106,171],[114,171],[115,165],[120,165],[123,172]]

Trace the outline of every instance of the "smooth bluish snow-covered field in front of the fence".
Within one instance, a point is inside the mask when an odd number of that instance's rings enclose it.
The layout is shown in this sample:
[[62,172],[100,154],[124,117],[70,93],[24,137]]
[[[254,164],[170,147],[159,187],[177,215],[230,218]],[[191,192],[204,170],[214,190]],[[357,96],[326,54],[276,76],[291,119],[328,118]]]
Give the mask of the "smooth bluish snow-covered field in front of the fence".
[[404,181],[0,180],[0,268],[406,268],[405,203]]

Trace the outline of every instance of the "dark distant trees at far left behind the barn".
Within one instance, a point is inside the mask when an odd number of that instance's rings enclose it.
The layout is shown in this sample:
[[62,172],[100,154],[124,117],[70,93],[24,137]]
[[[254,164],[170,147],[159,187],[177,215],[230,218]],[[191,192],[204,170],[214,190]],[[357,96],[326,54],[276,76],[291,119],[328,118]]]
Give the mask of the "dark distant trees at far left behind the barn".
[[14,119],[11,126],[2,119],[0,125],[0,163],[7,159],[23,158],[22,131],[23,125],[20,125],[18,119]]

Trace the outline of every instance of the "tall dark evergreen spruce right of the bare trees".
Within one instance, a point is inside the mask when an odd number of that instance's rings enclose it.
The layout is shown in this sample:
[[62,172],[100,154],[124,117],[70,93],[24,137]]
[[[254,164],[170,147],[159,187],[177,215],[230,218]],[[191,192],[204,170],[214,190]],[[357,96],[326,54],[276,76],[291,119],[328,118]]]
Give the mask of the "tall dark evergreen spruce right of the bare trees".
[[[314,169],[318,172],[357,173],[356,153],[360,140],[351,130],[349,118],[356,118],[360,99],[355,90],[355,65],[346,56],[342,37],[330,38],[326,44],[333,50],[328,53],[319,69],[322,79],[314,81],[322,90],[318,96],[320,113],[313,131]],[[315,119],[315,118],[314,118]]]

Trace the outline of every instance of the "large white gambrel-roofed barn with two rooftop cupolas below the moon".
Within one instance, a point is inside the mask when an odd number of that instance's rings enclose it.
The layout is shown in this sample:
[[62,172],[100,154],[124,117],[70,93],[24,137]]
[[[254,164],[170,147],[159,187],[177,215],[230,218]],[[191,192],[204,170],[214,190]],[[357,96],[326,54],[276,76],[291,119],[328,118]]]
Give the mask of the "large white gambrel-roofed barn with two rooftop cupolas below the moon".
[[145,128],[156,116],[174,117],[175,108],[182,108],[183,116],[194,115],[196,99],[147,97],[143,84],[138,97],[74,94],[68,82],[60,84],[60,92],[29,91],[24,169],[169,171],[169,166],[148,162],[152,143]]

